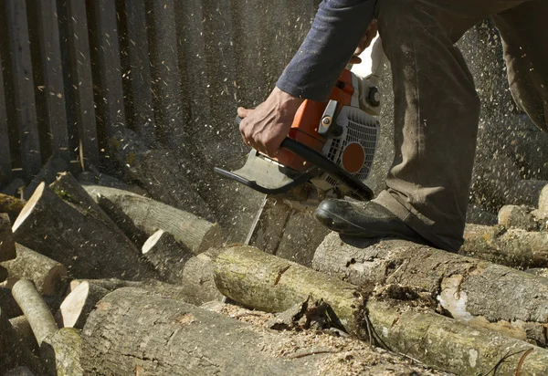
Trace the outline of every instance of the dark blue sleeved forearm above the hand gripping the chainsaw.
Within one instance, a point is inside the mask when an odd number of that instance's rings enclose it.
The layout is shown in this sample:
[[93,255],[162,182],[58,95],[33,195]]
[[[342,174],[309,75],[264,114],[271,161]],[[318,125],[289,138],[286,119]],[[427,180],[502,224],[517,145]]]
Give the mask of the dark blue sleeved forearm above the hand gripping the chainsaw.
[[374,17],[376,0],[323,0],[311,31],[276,86],[325,101]]

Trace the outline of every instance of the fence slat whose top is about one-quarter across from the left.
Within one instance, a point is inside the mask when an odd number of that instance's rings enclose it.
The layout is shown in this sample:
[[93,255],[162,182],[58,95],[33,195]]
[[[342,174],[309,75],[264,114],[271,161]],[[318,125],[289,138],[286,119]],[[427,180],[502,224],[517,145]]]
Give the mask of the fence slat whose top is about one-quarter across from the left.
[[135,131],[142,140],[152,144],[154,136],[153,90],[151,62],[146,31],[143,0],[126,0],[128,54]]

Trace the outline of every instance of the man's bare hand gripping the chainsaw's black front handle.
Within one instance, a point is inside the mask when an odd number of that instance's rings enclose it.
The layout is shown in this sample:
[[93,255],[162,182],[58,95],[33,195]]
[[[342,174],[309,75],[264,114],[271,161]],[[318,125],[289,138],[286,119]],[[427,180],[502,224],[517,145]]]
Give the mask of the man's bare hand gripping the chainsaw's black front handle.
[[237,115],[243,119],[239,130],[244,142],[257,151],[275,157],[303,101],[275,88],[255,110],[237,109]]

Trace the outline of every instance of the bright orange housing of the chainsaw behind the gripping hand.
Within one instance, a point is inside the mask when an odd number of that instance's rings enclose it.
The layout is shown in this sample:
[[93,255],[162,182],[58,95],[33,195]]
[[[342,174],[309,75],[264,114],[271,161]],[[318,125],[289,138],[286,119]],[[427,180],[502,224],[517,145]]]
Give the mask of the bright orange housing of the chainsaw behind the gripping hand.
[[[338,101],[339,107],[350,106],[353,92],[352,73],[350,70],[344,69],[337,84],[332,89],[329,99]],[[327,103],[310,99],[302,102],[291,125],[289,138],[308,146],[314,151],[321,152],[325,138],[318,133],[318,129],[321,126],[321,115],[327,107]],[[303,172],[311,167],[303,158],[286,149],[280,149],[274,160],[297,172]]]

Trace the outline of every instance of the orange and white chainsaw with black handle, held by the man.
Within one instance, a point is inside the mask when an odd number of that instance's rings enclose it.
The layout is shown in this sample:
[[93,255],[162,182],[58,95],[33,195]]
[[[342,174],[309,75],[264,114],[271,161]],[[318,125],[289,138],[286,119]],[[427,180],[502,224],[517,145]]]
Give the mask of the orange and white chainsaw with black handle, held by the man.
[[[373,198],[364,180],[372,170],[380,132],[375,118],[385,58],[380,46],[378,40],[370,74],[344,69],[327,102],[303,101],[276,158],[252,149],[242,168],[215,168],[216,173],[267,194],[258,217],[272,197],[300,212],[313,211],[325,198]],[[240,121],[237,118],[237,124]]]

